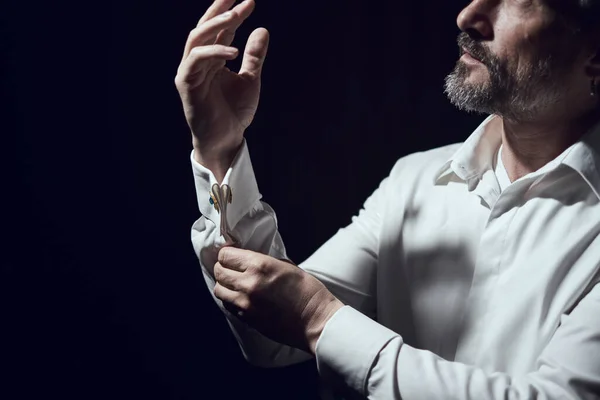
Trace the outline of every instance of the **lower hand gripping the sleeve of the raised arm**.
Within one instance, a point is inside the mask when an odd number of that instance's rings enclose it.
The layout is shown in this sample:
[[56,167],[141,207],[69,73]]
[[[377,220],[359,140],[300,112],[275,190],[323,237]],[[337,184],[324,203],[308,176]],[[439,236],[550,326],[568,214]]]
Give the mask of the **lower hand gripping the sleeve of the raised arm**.
[[263,335],[315,354],[327,321],[344,304],[296,265],[224,247],[214,293],[224,307]]

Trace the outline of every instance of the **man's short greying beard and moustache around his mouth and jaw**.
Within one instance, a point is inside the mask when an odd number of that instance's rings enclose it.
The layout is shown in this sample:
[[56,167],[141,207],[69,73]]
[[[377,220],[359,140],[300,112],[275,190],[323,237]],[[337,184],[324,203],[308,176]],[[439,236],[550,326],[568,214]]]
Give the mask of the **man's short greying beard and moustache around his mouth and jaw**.
[[459,109],[497,114],[514,121],[532,121],[561,101],[560,77],[564,77],[572,56],[558,58],[538,54],[536,61],[526,69],[517,70],[464,32],[458,36],[458,45],[480,60],[489,74],[485,83],[467,83],[469,67],[458,61],[454,71],[446,77],[445,92]]

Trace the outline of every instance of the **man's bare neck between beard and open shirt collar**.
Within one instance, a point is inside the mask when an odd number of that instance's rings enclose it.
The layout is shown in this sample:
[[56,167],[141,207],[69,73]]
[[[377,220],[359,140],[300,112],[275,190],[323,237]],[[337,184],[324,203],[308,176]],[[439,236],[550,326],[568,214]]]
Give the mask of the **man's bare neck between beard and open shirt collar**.
[[551,123],[502,120],[502,162],[510,181],[554,160],[596,123],[597,115]]

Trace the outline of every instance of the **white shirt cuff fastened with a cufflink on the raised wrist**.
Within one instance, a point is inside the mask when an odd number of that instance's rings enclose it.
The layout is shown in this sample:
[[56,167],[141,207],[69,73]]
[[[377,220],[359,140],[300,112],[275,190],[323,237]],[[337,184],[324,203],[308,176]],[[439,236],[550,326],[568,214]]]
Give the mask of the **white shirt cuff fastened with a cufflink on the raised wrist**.
[[[210,191],[212,186],[218,183],[217,179],[212,171],[194,159],[193,150],[190,159],[194,172],[198,208],[205,218],[218,225],[219,213],[210,204]],[[221,184],[227,184],[231,188],[232,202],[227,207],[227,224],[233,230],[244,215],[250,212],[262,197],[258,191],[246,139],[244,139],[241,149],[235,156]]]

